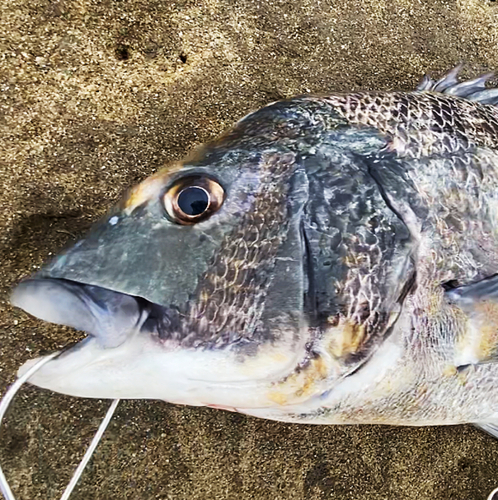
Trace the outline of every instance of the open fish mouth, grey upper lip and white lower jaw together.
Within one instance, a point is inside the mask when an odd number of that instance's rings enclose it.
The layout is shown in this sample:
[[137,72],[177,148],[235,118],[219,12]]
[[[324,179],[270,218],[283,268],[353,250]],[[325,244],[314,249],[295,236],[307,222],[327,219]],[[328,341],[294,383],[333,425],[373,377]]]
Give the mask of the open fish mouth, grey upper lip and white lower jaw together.
[[[29,379],[69,396],[267,406],[272,403],[262,388],[287,374],[302,355],[273,345],[246,357],[230,348],[185,348],[181,339],[158,335],[161,322],[174,326],[167,307],[77,281],[34,276],[14,288],[11,302],[41,320],[88,333]],[[27,361],[18,375],[38,359]]]

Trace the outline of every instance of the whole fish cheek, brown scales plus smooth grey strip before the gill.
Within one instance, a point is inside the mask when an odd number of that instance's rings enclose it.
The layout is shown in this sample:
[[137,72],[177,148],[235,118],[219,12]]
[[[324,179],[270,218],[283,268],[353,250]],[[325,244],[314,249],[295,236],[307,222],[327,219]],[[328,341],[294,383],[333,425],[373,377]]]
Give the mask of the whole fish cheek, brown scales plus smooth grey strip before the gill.
[[223,238],[189,304],[185,346],[267,343],[274,327],[280,336],[299,324],[302,254],[290,202],[297,164],[293,154],[269,153],[259,167],[251,206]]

